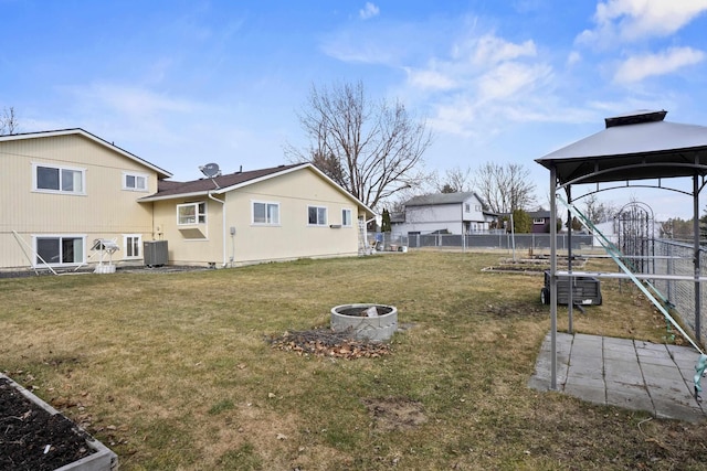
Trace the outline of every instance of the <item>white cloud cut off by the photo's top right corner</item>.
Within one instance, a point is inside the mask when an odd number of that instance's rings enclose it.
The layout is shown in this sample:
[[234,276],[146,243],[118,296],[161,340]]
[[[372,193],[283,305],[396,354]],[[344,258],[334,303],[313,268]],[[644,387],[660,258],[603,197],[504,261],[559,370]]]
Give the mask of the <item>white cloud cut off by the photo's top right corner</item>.
[[584,30],[578,42],[609,46],[667,36],[707,11],[707,0],[608,0],[597,4],[597,28]]

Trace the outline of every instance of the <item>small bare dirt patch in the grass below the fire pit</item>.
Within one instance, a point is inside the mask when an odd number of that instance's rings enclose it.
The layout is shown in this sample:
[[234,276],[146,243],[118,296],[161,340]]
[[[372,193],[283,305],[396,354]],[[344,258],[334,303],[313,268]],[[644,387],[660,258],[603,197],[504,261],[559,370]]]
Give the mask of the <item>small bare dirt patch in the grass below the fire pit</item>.
[[428,421],[424,407],[407,397],[362,399],[373,417],[373,427],[380,431],[404,430]]

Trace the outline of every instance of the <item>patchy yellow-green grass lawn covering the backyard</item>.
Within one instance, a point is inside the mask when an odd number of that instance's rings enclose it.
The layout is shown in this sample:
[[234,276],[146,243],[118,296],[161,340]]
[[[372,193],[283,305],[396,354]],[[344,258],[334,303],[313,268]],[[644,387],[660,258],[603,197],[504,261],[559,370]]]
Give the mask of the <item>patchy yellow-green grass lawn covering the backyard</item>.
[[[541,276],[481,271],[502,256],[3,279],[0,371],[110,447],[122,471],[705,469],[699,425],[526,386],[549,307]],[[608,280],[602,293],[576,331],[664,341],[637,289]],[[391,353],[267,341],[354,302],[398,307],[407,329]]]

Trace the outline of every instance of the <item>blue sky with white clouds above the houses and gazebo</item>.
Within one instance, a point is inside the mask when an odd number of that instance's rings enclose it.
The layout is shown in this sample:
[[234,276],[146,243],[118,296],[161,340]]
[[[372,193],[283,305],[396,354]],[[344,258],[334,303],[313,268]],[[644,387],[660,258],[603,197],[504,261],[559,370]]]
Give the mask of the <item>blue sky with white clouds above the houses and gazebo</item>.
[[[287,163],[313,85],[362,81],[425,117],[425,169],[535,162],[609,116],[707,126],[707,0],[0,0],[0,108],[84,128],[168,171]],[[683,184],[678,182],[678,184]],[[685,184],[692,185],[689,181]],[[666,191],[600,193],[692,217]],[[700,202],[700,212],[703,208]]]

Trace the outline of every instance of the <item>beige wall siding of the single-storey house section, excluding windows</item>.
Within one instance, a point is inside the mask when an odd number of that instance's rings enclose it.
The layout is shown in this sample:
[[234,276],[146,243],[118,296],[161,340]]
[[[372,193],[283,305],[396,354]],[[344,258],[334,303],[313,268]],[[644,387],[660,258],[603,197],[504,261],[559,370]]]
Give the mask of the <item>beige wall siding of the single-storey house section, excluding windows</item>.
[[[177,227],[176,205],[183,202],[182,200],[155,202],[155,221],[156,225],[162,228],[160,237],[168,240],[170,264],[212,263],[217,266],[236,266],[358,254],[356,218],[359,211],[361,216],[365,215],[363,210],[360,210],[350,196],[327,183],[309,168],[249,184],[214,197],[223,200],[225,204],[208,197],[190,199],[208,203],[207,225],[203,226],[207,238],[201,240],[184,238],[183,233]],[[279,225],[252,224],[253,201],[279,203]],[[327,207],[326,226],[307,224],[309,205]],[[352,225],[331,228],[330,225],[341,224],[342,208],[351,210]],[[233,237],[230,227],[235,227]]]

